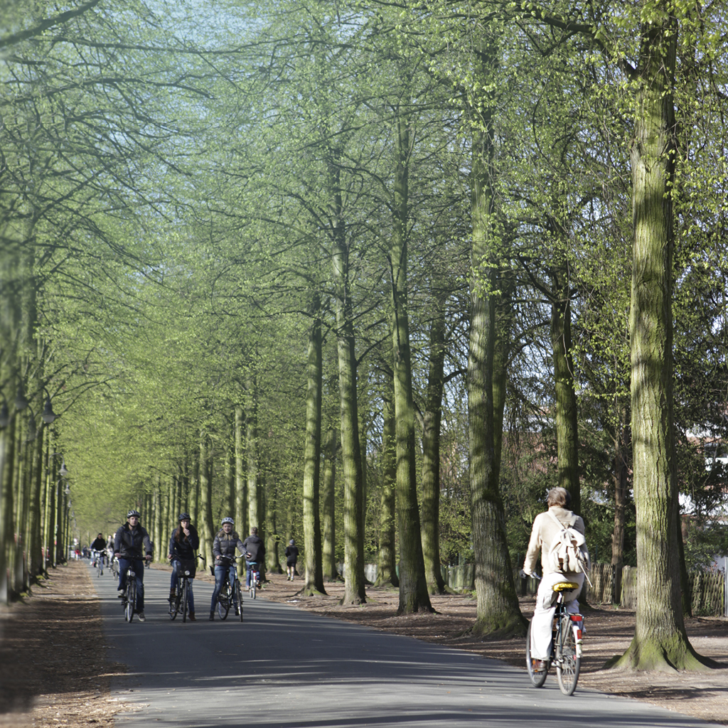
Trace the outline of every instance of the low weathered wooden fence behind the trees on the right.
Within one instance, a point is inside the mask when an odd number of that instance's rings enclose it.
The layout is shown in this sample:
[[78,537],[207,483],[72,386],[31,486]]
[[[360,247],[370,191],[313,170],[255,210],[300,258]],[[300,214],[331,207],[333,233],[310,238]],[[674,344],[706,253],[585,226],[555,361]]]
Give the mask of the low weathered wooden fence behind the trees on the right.
[[[443,566],[443,579],[456,591],[475,589],[475,569],[472,564],[463,566]],[[614,604],[614,570],[609,563],[596,563],[589,574],[591,585],[587,584],[587,601],[590,604]],[[726,612],[725,574],[711,574],[697,571],[689,574],[692,590],[692,613],[696,617],[722,617]],[[515,574],[516,587],[522,595],[535,594],[538,589],[536,579],[521,579]],[[637,569],[635,566],[622,568],[622,588],[620,601],[622,609],[637,609]],[[728,616],[728,615],[727,615]]]

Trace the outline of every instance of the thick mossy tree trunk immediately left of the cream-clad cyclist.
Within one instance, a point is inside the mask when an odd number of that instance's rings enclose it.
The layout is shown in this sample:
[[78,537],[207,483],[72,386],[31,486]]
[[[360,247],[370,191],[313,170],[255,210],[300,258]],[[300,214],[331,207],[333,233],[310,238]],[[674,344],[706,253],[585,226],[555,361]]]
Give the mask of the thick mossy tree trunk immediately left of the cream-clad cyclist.
[[[497,61],[493,49],[483,47],[476,53],[479,77],[489,85]],[[472,544],[475,591],[478,595],[473,631],[523,635],[526,633],[526,620],[515,592],[494,446],[493,367],[497,290],[494,270],[499,262],[492,189],[494,132],[491,110],[494,100],[483,99],[480,108],[480,116],[474,120],[478,129],[472,140],[472,309],[467,361]]]

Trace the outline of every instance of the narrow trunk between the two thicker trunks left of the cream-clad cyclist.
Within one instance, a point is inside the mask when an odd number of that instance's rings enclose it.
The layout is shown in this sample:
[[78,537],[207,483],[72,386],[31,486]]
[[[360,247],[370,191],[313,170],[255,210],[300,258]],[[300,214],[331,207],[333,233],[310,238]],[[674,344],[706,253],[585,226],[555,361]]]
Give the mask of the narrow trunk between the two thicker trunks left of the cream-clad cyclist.
[[430,323],[430,365],[422,415],[422,554],[427,588],[446,592],[440,568],[440,422],[445,387],[445,303],[447,293],[435,296]]

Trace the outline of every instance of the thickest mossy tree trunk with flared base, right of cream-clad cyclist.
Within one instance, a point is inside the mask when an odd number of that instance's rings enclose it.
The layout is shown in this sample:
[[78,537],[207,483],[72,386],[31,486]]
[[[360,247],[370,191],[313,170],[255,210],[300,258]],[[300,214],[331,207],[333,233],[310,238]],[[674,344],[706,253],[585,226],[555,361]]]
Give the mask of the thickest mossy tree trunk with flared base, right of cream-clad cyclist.
[[680,596],[678,488],[673,434],[673,102],[678,24],[667,0],[645,0],[635,88],[630,359],[637,509],[635,636],[618,664],[635,670],[700,670]]

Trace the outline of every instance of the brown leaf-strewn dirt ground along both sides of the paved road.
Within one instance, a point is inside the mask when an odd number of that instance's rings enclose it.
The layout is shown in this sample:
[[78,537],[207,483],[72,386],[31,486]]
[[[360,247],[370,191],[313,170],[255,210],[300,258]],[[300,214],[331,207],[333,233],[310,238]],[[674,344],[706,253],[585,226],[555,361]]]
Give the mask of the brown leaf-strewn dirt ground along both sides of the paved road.
[[[201,571],[198,578],[212,581]],[[369,589],[367,604],[339,606],[343,584],[327,584],[328,596],[301,597],[302,584],[273,574],[261,596],[523,667],[523,640],[483,641],[464,634],[475,621],[475,599],[470,596],[432,597],[438,614],[397,617],[396,591]],[[532,608],[532,599],[523,599],[526,616]],[[577,690],[592,688],[646,700],[728,725],[728,620],[700,618],[687,623],[695,649],[721,662],[719,670],[708,673],[601,670],[609,657],[624,652],[630,643],[634,614],[595,609],[585,626]],[[196,628],[204,630],[209,623],[201,620]],[[74,561],[53,570],[32,596],[0,612],[0,727],[113,728],[122,703],[111,697],[111,678],[124,673],[124,666],[108,662],[106,654],[100,605],[86,563]],[[523,679],[528,680],[525,669]]]

